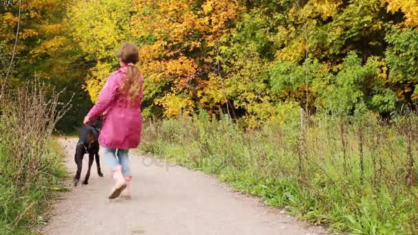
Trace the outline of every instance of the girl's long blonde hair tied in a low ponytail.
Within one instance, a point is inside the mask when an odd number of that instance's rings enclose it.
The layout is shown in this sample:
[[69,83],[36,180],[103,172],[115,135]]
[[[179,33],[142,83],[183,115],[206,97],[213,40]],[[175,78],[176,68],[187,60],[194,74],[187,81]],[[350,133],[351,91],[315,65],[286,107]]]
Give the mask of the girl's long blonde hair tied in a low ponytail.
[[116,53],[123,63],[127,64],[126,77],[122,82],[120,91],[126,96],[129,103],[140,102],[144,78],[135,64],[140,60],[139,49],[133,43],[123,43]]

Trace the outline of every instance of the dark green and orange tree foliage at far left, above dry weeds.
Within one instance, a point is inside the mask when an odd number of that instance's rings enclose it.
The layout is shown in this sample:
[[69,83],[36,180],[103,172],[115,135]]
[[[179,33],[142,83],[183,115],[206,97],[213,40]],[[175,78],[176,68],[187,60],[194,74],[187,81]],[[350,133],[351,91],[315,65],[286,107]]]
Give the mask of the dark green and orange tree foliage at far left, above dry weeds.
[[[59,131],[72,131],[80,125],[91,102],[86,100],[85,83],[91,67],[83,52],[74,43],[65,21],[65,1],[22,1],[19,40],[8,89],[21,87],[28,80],[42,80],[58,89],[65,89],[61,102],[74,95],[74,109],[58,126]],[[9,67],[17,31],[19,1],[0,3],[0,82],[3,85]],[[82,100],[80,100],[82,99]]]

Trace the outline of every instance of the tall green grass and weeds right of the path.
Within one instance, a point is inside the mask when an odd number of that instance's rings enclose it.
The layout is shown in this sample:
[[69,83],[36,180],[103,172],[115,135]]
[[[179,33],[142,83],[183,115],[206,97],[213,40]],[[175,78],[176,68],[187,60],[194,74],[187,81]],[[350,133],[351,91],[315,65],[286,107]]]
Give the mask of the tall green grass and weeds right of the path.
[[[304,117],[302,117],[304,118]],[[414,234],[416,115],[317,115],[244,131],[206,113],[149,123],[142,150],[218,175],[237,190],[330,230]]]

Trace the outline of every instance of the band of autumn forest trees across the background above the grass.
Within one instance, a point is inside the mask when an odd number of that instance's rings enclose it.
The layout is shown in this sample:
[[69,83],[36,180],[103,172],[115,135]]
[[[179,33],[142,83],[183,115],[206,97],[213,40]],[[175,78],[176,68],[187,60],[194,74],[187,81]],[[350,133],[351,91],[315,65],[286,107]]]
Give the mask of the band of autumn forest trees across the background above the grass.
[[[144,115],[229,112],[246,126],[289,109],[391,118],[415,109],[417,2],[23,1],[10,84],[39,78],[94,102],[123,41],[141,46]],[[18,1],[1,5],[1,75]],[[84,109],[82,108],[84,107]],[[74,117],[82,116],[82,113]],[[63,122],[78,124],[67,117]]]

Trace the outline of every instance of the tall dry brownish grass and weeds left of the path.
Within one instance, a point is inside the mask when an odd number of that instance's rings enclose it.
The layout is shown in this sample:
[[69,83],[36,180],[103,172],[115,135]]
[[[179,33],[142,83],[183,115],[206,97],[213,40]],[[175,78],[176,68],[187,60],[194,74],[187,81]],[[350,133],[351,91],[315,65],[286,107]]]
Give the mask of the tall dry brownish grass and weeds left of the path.
[[28,82],[0,100],[0,234],[26,234],[22,228],[43,223],[45,203],[65,175],[52,139],[68,109],[58,96]]

